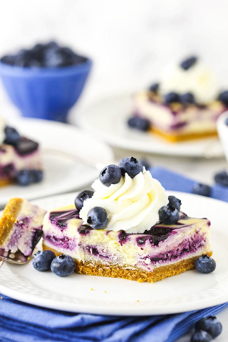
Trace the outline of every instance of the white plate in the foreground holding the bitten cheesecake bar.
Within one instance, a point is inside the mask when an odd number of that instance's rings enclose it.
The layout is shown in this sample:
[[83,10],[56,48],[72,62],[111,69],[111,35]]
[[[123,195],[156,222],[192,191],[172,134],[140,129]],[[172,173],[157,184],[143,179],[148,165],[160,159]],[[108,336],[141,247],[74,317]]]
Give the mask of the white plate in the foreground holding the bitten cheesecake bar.
[[[210,218],[213,258],[217,263],[213,273],[191,270],[149,284],[77,273],[61,278],[51,271],[36,271],[31,262],[4,263],[0,270],[0,292],[53,309],[109,315],[171,314],[228,301],[228,203],[186,193],[172,194],[182,200],[182,210],[188,215]],[[65,194],[33,202],[52,209],[68,205],[74,198],[75,194]]]

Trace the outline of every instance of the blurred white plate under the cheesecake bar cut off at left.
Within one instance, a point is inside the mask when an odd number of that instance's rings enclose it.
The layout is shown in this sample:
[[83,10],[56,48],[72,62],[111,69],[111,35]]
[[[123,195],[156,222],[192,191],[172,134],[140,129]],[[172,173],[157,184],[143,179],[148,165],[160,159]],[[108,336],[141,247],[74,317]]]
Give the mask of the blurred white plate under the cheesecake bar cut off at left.
[[[43,150],[44,180],[28,187],[0,188],[0,207],[12,197],[34,199],[80,189],[99,174],[99,163],[110,164],[111,149],[75,126],[38,119],[9,119],[21,134],[40,143]],[[87,158],[83,165],[79,158]],[[79,162],[78,162],[79,161]]]

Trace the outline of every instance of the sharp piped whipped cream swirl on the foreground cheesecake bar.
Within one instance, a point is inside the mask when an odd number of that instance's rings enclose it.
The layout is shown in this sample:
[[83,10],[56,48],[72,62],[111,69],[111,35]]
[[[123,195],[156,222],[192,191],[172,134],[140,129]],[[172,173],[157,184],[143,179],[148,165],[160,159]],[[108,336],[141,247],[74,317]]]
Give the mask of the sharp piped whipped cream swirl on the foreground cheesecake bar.
[[84,201],[79,216],[86,223],[91,208],[104,208],[109,217],[107,231],[144,233],[159,221],[159,209],[169,202],[161,183],[145,168],[133,179],[125,173],[119,183],[109,187],[97,179],[92,188],[95,192]]

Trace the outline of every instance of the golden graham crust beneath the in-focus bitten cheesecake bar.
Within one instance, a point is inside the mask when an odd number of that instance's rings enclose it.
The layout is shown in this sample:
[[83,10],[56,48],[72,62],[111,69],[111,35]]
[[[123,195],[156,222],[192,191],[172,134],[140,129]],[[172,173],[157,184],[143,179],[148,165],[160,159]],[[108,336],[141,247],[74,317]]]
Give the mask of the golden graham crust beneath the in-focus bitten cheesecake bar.
[[[50,249],[52,250],[56,257],[61,255],[62,253],[56,251],[53,248],[50,248],[45,245],[43,242],[43,250]],[[206,253],[211,256],[212,251]],[[112,277],[112,278],[123,278],[129,280],[137,280],[139,282],[155,282],[158,280],[162,280],[166,277],[171,277],[173,275],[177,275],[179,273],[187,271],[187,269],[194,268],[194,262],[197,258],[201,257],[202,254],[197,257],[189,258],[186,260],[182,260],[176,262],[175,264],[165,265],[157,267],[153,270],[153,272],[146,271],[144,269],[130,269],[127,265],[119,266],[116,264],[102,264],[100,262],[90,262],[90,261],[79,261],[75,259],[76,262],[76,272],[87,275],[95,275],[102,277]]]

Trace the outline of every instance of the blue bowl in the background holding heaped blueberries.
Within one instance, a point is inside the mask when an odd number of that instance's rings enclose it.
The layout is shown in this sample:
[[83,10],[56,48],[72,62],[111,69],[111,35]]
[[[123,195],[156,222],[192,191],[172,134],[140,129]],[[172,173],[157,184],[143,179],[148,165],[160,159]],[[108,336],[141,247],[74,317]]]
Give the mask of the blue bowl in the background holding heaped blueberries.
[[11,101],[25,117],[66,121],[90,73],[91,60],[61,68],[31,68],[0,62],[0,76]]

